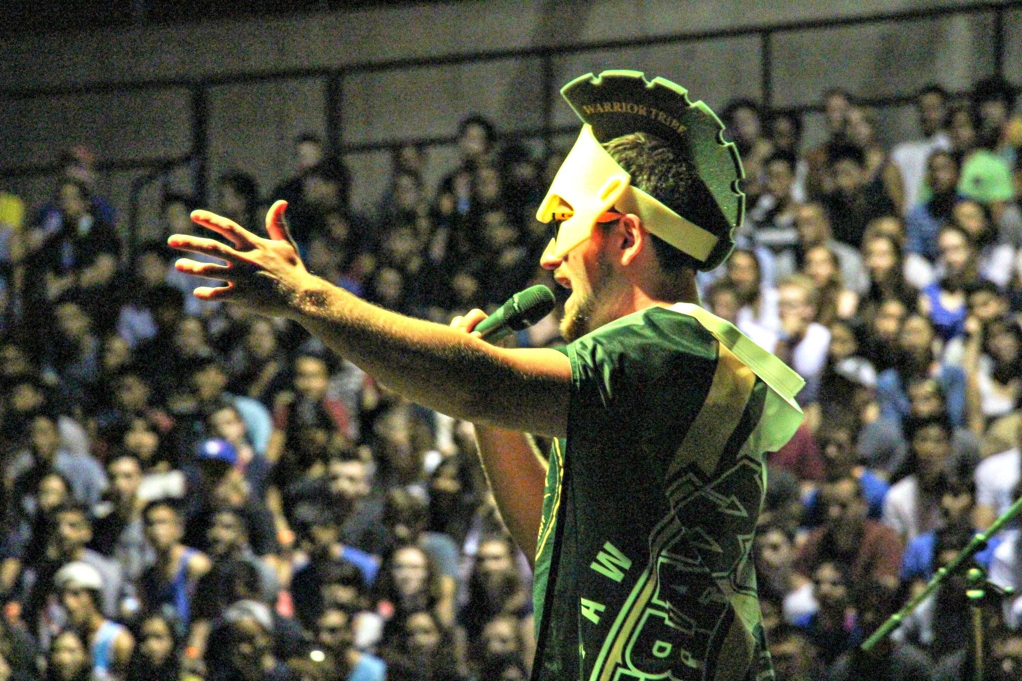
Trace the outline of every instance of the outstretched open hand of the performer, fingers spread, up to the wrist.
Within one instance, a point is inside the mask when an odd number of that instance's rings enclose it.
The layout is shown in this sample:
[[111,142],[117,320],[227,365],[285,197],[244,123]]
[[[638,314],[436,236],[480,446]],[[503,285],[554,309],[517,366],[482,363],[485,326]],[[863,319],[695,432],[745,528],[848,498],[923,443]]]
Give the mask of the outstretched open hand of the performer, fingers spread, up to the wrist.
[[171,248],[200,253],[225,264],[181,258],[179,272],[219,279],[224,286],[199,286],[193,293],[202,300],[226,300],[273,317],[295,313],[297,294],[313,278],[298,256],[298,249],[284,220],[286,201],[277,201],[266,213],[269,239],[257,236],[237,223],[208,210],[193,210],[192,222],[226,238],[228,246],[214,239],[175,234]]

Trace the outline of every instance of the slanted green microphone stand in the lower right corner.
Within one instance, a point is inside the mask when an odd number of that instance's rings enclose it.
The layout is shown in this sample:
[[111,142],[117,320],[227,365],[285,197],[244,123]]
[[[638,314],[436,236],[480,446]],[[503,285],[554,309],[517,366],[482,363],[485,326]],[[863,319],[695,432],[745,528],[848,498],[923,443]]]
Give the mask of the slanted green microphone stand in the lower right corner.
[[[930,594],[937,590],[937,588],[943,583],[949,575],[958,572],[968,561],[971,561],[976,553],[983,550],[986,546],[986,540],[997,533],[1001,528],[1011,522],[1016,516],[1022,513],[1022,496],[1015,500],[1015,503],[1005,512],[1005,515],[993,522],[986,532],[981,532],[972,538],[969,544],[959,551],[959,554],[955,556],[955,560],[948,563],[943,568],[940,568],[933,575],[933,578],[929,581],[922,591],[920,591],[914,598],[904,604],[901,610],[890,618],[884,624],[877,629],[872,636],[870,636],[863,643],[863,650],[869,650],[874,645],[879,643],[884,637],[890,635],[901,621],[915,611],[923,600],[925,600]],[[990,589],[1000,593],[1010,593],[1011,589],[1003,589],[994,584],[986,581],[986,574],[979,569],[972,569],[968,573],[969,581],[971,582],[969,590],[966,595],[969,597],[969,602],[972,609],[972,620],[974,627],[973,644],[975,645],[975,654],[973,660],[975,661],[975,679],[976,681],[983,681],[983,615],[982,615],[982,598],[986,595],[986,590]]]

